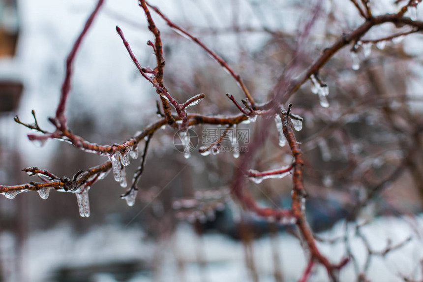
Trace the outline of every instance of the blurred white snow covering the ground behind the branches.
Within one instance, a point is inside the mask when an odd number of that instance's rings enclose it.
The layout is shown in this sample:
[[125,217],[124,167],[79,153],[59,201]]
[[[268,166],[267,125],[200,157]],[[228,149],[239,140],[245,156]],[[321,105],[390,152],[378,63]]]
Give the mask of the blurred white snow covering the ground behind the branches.
[[[351,250],[357,258],[358,266],[363,270],[367,250],[362,239],[355,236],[355,226],[348,225],[348,237]],[[423,216],[411,218],[379,218],[361,228],[372,251],[385,250],[388,240],[395,246],[411,236],[411,241],[398,250],[388,252],[385,257],[374,256],[370,262],[368,278],[372,282],[401,281],[398,274],[409,276],[418,273],[419,262],[423,258]],[[320,237],[334,239],[345,234],[345,222],[341,221]],[[155,245],[144,240],[140,228],[123,226],[97,226],[87,233],[77,235],[72,228],[62,224],[47,231],[31,233],[23,248],[23,269],[30,282],[51,281],[49,278],[60,267],[78,269],[90,265],[107,265],[127,261],[143,261],[152,264],[156,251],[163,252],[158,278],[161,281],[180,281],[184,277],[187,282],[252,281],[245,266],[244,247],[242,242],[232,240],[221,234],[206,234],[198,237],[192,228],[185,223],[179,225],[173,238]],[[2,265],[7,251],[12,251],[13,237],[8,233],[0,234],[0,250]],[[335,244],[319,243],[319,247],[333,262],[337,262],[346,254],[343,240]],[[279,233],[272,242],[269,237],[257,239],[253,243],[254,263],[260,281],[274,281],[273,252],[280,257],[280,269],[285,280],[297,281],[305,267],[305,256],[299,240],[286,233]],[[202,268],[198,259],[205,262]],[[178,268],[184,262],[184,270]],[[9,262],[10,263],[10,262]],[[323,268],[315,269],[316,273],[310,281],[328,281]],[[148,274],[150,273],[150,274]],[[151,281],[151,272],[134,273],[130,282]],[[355,280],[354,263],[340,273],[341,281]],[[106,273],[96,273],[91,279],[96,282],[116,281]],[[13,281],[13,280],[6,280]]]

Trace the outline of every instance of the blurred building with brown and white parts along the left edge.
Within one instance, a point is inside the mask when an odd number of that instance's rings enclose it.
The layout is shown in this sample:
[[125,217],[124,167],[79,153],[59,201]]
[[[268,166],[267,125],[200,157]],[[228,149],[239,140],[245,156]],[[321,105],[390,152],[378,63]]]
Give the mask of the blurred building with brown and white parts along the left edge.
[[[19,153],[16,145],[17,127],[13,122],[24,89],[22,81],[13,76],[7,65],[15,60],[19,38],[19,17],[16,0],[0,0],[0,64],[6,65],[0,73],[0,183],[19,181],[17,171]],[[10,161],[12,160],[13,161]],[[24,198],[10,201],[0,199],[0,281],[21,281],[20,243],[25,228]]]

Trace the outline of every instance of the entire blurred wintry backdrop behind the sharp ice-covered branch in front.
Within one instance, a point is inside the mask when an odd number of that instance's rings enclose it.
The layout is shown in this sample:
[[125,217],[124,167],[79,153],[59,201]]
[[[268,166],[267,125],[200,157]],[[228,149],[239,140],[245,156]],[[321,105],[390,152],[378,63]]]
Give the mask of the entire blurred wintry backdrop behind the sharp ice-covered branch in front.
[[[346,0],[153,4],[241,74],[257,102],[267,101],[278,82],[297,78],[336,38],[363,23]],[[2,185],[34,181],[21,171],[29,166],[71,178],[106,160],[55,140],[36,147],[26,137],[30,130],[13,120],[19,115],[32,123],[33,109],[39,125],[52,130],[47,118],[55,115],[65,58],[94,5],[0,0]],[[399,7],[391,0],[371,5],[375,15]],[[232,77],[152,15],[162,34],[170,93],[179,101],[205,93],[190,113],[238,114],[225,95],[243,98]],[[422,15],[419,7],[418,19]],[[309,34],[300,36],[307,23]],[[103,145],[122,143],[158,119],[157,94],[127,55],[116,25],[139,62],[155,66],[146,44],[153,37],[137,1],[107,0],[77,54],[66,111],[75,134]],[[407,31],[387,24],[363,39]],[[399,39],[371,44],[370,54],[369,46],[359,44],[358,70],[351,68],[352,46],[338,52],[319,74],[330,89],[329,108],[312,94],[310,82],[289,100],[293,113],[304,118],[297,139],[306,160],[307,219],[333,262],[353,257],[340,273],[342,281],[423,279],[423,37]],[[293,67],[298,50],[301,58]],[[289,149],[278,146],[273,120],[259,117],[240,125],[249,136],[241,145],[248,148],[262,126],[273,129],[250,168],[289,164]],[[215,128],[196,127],[200,143],[204,131]],[[174,134],[169,127],[154,134],[133,207],[120,199],[125,189],[110,175],[90,190],[89,218],[79,216],[70,193],[52,191],[48,200],[35,192],[0,197],[0,282],[297,281],[307,251],[295,227],[242,211],[229,196],[238,160],[224,152],[205,157],[195,151],[184,158],[173,146]],[[128,181],[138,162],[127,167]],[[290,177],[246,187],[261,205],[272,207],[289,207],[291,188]],[[388,249],[393,250],[383,255]],[[324,269],[313,271],[312,281],[328,281]]]

